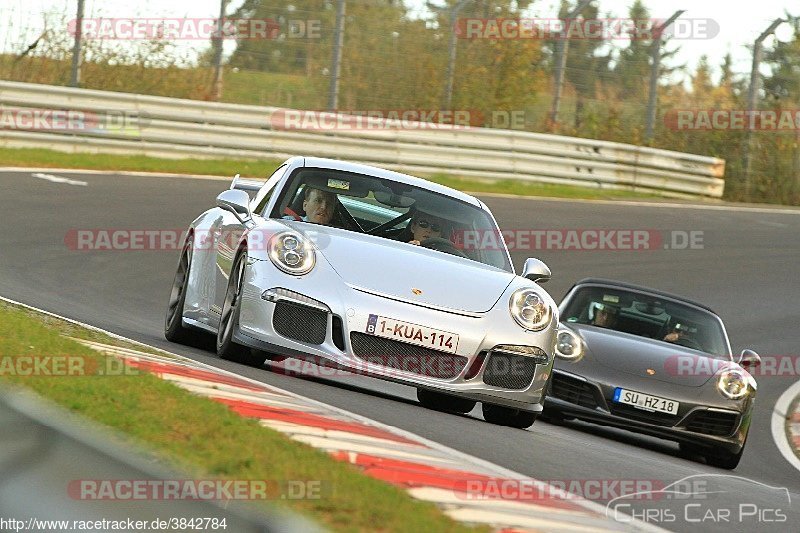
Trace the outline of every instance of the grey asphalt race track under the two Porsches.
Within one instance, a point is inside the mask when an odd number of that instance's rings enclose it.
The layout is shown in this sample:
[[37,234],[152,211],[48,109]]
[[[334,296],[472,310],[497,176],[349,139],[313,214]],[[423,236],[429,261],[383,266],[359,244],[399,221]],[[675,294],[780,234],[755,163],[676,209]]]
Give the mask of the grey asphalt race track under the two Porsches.
[[[2,296],[401,427],[541,480],[656,480],[667,485],[697,476],[692,480],[701,483],[693,487],[715,494],[656,498],[622,509],[669,530],[800,528],[800,472],[780,454],[770,431],[775,401],[797,381],[796,372],[759,378],[747,449],[740,466],[729,472],[681,456],[673,443],[621,430],[541,421],[528,431],[498,427],[484,422],[479,409],[469,416],[424,409],[414,400],[415,391],[401,385],[355,376],[299,378],[241,366],[164,340],[177,251],[77,251],[65,244],[71,229],[182,230],[213,205],[227,184],[113,173],[52,174],[87,185],[37,179],[31,172],[0,172]],[[544,287],[556,300],[587,276],[651,285],[716,309],[735,353],[753,348],[762,359],[798,354],[800,211],[483,199],[503,229],[702,232],[697,234],[702,247],[694,250],[662,245],[638,251],[521,250],[513,258],[518,269],[528,256],[545,261],[553,279]],[[664,235],[669,243],[670,234]],[[468,287],[464,280],[464,289]],[[596,501],[604,504],[607,499]]]

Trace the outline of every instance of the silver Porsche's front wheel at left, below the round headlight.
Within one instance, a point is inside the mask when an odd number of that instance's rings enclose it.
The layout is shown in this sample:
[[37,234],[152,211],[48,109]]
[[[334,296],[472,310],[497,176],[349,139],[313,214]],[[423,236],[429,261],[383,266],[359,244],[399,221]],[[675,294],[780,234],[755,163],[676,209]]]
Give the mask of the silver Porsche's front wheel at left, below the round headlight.
[[217,355],[236,363],[261,366],[267,359],[263,352],[251,350],[233,340],[233,331],[239,325],[246,264],[247,251],[240,249],[233,261],[233,268],[228,276],[228,289],[225,291],[225,300],[222,302],[222,313],[220,314],[219,328],[217,328]]

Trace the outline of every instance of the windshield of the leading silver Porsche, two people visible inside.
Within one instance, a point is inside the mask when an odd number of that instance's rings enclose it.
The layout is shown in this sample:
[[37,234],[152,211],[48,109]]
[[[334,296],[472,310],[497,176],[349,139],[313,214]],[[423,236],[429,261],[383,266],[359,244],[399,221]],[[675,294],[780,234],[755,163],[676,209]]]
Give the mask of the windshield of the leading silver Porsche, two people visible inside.
[[450,196],[386,178],[299,169],[287,181],[270,217],[375,235],[513,272],[504,245],[472,249],[475,247],[465,247],[459,239],[465,233],[499,235],[489,213]]

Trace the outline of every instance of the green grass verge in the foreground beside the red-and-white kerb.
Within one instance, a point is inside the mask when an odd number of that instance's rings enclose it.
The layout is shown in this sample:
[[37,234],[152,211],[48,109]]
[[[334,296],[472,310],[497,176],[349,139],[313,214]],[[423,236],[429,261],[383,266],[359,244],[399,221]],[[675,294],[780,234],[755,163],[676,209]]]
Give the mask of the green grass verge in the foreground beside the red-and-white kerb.
[[[46,322],[46,323],[45,323]],[[412,499],[352,465],[292,441],[222,404],[195,396],[155,376],[10,375],[14,356],[70,355],[104,365],[105,356],[67,338],[77,326],[0,302],[0,384],[11,381],[95,422],[128,435],[198,478],[316,480],[319,499],[276,499],[277,505],[346,531],[476,531]],[[116,341],[90,333],[108,344]],[[90,368],[92,365],[86,365]],[[107,367],[104,367],[107,368]],[[264,502],[257,504],[265,505]],[[488,531],[488,529],[477,529]]]

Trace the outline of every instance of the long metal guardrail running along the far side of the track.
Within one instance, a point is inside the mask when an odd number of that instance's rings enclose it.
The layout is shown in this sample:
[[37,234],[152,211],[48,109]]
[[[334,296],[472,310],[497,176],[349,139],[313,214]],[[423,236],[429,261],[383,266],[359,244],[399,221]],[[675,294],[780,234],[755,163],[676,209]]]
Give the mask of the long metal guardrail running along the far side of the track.
[[[116,127],[42,129],[0,121],[0,146],[169,158],[307,154],[411,173],[526,180],[720,198],[725,161],[622,143],[491,128],[373,120],[365,129],[276,129],[275,107],[0,82],[0,111],[77,110]],[[325,116],[322,114],[321,116]],[[416,125],[416,127],[415,127]],[[410,126],[410,127],[409,127]],[[231,169],[235,171],[235,169]]]

